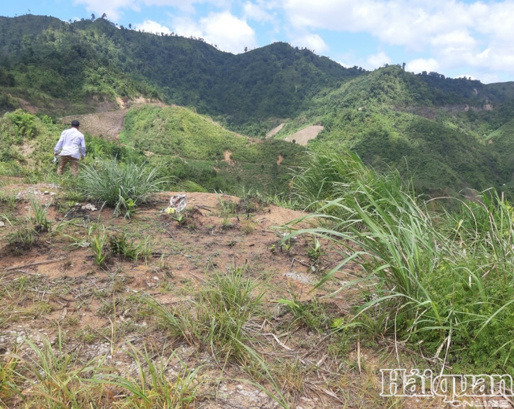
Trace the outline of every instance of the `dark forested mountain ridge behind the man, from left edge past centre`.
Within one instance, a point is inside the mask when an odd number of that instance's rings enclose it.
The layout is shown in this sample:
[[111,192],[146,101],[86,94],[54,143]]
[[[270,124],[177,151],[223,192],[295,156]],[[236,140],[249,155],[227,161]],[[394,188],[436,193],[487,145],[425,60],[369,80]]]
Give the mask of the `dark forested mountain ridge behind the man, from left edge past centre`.
[[361,73],[285,43],[234,55],[202,39],[117,28],[102,18],[0,17],[0,27],[4,100],[26,97],[50,113],[65,109],[45,105],[49,98],[87,111],[94,97],[143,95],[241,124],[293,116],[323,87]]

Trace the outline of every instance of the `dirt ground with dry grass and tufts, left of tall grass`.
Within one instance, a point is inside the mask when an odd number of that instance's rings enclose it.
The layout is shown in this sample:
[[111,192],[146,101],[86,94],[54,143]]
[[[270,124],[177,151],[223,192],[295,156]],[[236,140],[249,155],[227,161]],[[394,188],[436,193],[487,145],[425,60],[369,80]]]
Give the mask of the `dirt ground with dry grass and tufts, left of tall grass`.
[[[50,207],[50,232],[38,233],[37,246],[14,254],[0,241],[2,405],[390,407],[379,396],[379,366],[362,357],[359,371],[357,339],[331,333],[346,300],[316,298],[337,283],[309,293],[311,285],[284,275],[293,269],[320,277],[307,267],[313,241],[295,242],[290,254],[269,250],[278,240],[270,226],[299,213],[260,209],[248,231],[246,213],[223,209],[214,195],[188,196],[195,230],[160,213],[165,196],[131,220],[111,209],[75,210],[55,234],[68,210]],[[17,203],[12,215],[23,217],[27,205]],[[227,215],[237,228],[223,228]],[[6,228],[10,234],[16,226]],[[117,250],[145,240],[153,248],[146,261],[118,253],[99,265],[93,248],[80,247],[97,233],[113,238]],[[102,249],[111,252],[106,243]],[[335,251],[324,250],[316,271],[337,262]],[[279,299],[290,303],[279,308]],[[391,346],[385,348],[369,354],[392,365]]]

